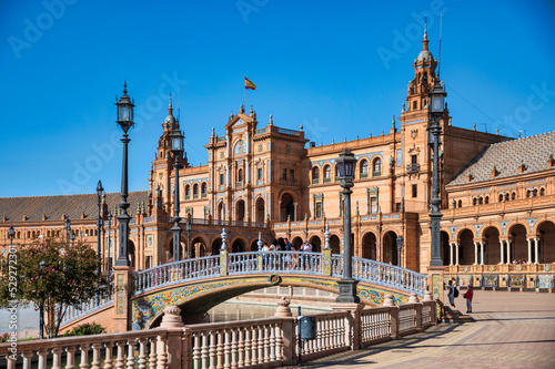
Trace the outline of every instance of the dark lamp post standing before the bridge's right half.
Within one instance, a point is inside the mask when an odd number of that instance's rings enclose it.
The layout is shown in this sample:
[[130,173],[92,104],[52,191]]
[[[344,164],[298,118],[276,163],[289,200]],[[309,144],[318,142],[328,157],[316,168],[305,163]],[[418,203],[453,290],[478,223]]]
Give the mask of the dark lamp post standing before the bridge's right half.
[[356,296],[356,284],[353,279],[353,250],[351,245],[351,187],[353,187],[354,164],[356,158],[351,150],[343,148],[337,160],[339,178],[341,180],[341,192],[343,202],[343,277],[337,281],[340,296],[337,303],[360,303]]

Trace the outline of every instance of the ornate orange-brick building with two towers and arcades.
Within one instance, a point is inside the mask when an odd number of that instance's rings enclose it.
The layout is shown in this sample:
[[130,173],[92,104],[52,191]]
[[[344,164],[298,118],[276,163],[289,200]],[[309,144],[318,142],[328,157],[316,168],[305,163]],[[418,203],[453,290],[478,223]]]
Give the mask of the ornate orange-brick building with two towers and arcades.
[[[142,269],[172,258],[174,191],[180,192],[181,215],[186,214],[183,255],[186,249],[191,256],[218,253],[222,227],[230,234],[230,252],[258,249],[259,232],[268,242],[289,237],[299,245],[307,239],[319,252],[326,225],[333,253],[341,253],[336,160],[342,148],[350,148],[357,160],[352,188],[354,255],[401,262],[425,273],[431,257],[428,94],[438,75],[426,33],[422,43],[406,102],[387,133],[315,146],[302,126],[282,129],[271,115],[259,125],[254,110],[246,113],[241,105],[221,135],[212,130],[204,146],[206,165],[191,166],[186,154],[180,158],[178,185],[170,133],[180,125],[170,102],[149,189],[131,194],[130,203],[138,204],[130,225],[132,265]],[[512,140],[453,126],[448,109],[441,127],[442,257],[447,275],[509,273],[513,259],[526,263],[518,270],[549,273],[555,263],[555,132]],[[104,197],[104,219],[117,203],[117,194]],[[11,225],[19,243],[39,234],[63,236],[65,216],[87,237],[87,232],[95,232],[95,195],[0,198],[1,242],[9,243]],[[111,227],[105,223],[102,230],[104,259],[109,245],[112,258],[115,253],[110,242],[118,239],[115,222]],[[404,245],[397,260],[400,235]],[[90,242],[94,245],[95,238]]]

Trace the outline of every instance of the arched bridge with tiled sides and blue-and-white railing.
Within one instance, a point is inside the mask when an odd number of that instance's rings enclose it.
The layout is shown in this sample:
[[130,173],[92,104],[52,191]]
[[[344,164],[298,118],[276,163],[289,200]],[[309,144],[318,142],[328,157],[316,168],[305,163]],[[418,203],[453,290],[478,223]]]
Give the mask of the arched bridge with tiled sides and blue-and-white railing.
[[[179,306],[185,324],[200,322],[215,305],[275,285],[337,293],[342,266],[342,255],[324,249],[323,253],[220,250],[220,255],[137,273],[115,267],[109,293],[70,309],[62,329],[84,321],[100,322],[112,331],[154,328],[168,306]],[[353,258],[353,278],[359,281],[361,301],[370,306],[381,306],[386,295],[392,295],[395,304],[404,304],[411,294],[423,297],[427,286],[426,275],[357,257]]]

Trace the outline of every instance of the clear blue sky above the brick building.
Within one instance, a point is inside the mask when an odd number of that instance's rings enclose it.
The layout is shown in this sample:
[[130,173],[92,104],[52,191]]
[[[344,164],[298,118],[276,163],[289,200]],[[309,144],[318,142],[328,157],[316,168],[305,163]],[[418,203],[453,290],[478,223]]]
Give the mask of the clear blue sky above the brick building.
[[[243,99],[259,126],[299,129],[320,145],[379,135],[398,115],[422,49],[447,86],[453,124],[515,137],[552,131],[553,1],[0,2],[0,196],[119,192],[115,95],[134,98],[130,189],[147,189],[168,93],[186,153],[205,164]],[[178,102],[178,90],[179,102]],[[248,107],[248,109],[249,109]]]

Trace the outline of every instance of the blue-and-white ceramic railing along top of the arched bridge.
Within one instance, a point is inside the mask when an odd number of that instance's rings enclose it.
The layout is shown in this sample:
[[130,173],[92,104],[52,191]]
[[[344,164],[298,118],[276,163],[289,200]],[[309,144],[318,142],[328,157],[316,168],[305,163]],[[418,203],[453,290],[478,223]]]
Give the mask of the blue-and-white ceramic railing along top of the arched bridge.
[[[202,278],[278,273],[341,277],[343,255],[303,252],[233,253],[164,264],[131,275],[132,294]],[[427,276],[376,260],[353,258],[353,278],[424,296]]]

